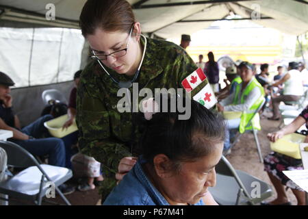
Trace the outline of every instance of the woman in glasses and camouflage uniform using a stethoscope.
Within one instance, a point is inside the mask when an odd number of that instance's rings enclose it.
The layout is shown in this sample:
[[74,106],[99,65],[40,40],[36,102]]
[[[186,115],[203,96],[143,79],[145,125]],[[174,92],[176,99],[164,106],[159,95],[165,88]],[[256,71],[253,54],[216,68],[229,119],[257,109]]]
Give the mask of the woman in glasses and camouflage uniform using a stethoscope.
[[[101,192],[105,200],[116,185],[120,160],[126,157],[117,179],[135,164],[131,156],[138,156],[137,140],[142,133],[133,123],[133,113],[120,113],[117,109],[123,98],[117,96],[117,81],[134,81],[139,90],[181,88],[181,81],[197,66],[178,45],[140,37],[140,23],[125,0],[88,0],[79,24],[95,59],[81,73],[77,90],[79,148],[81,153],[101,162],[105,179]],[[207,83],[207,79],[203,80],[191,94],[195,95]],[[128,89],[132,92],[132,88]]]

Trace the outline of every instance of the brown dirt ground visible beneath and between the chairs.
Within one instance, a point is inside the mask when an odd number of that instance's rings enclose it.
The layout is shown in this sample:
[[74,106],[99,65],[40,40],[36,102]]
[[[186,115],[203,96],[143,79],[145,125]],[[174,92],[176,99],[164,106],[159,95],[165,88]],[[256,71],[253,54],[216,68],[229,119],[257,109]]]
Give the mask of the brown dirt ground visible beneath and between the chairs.
[[[271,116],[270,112],[264,112],[264,116]],[[270,143],[266,138],[266,134],[272,131],[278,130],[279,124],[281,121],[272,121],[266,118],[261,118],[261,127],[262,130],[258,133],[259,142],[261,145],[261,152],[263,157],[270,152]],[[259,162],[259,157],[257,155],[257,147],[255,145],[255,140],[252,133],[245,133],[241,136],[240,141],[235,144],[230,155],[227,155],[227,159],[233,165],[235,169],[243,170],[249,174],[270,183],[268,175],[264,171],[264,166]],[[274,188],[273,188],[274,190]],[[276,197],[276,192],[268,201]],[[292,202],[292,205],[296,205],[296,198],[292,194],[291,190],[287,191],[287,196]],[[97,205],[100,203],[100,196],[98,188],[88,192],[79,192],[76,191],[73,194],[66,196],[68,201],[72,205]],[[49,201],[64,203],[59,196],[56,198],[51,198]],[[12,203],[11,203],[12,204]],[[43,205],[50,205],[49,203],[44,203]]]

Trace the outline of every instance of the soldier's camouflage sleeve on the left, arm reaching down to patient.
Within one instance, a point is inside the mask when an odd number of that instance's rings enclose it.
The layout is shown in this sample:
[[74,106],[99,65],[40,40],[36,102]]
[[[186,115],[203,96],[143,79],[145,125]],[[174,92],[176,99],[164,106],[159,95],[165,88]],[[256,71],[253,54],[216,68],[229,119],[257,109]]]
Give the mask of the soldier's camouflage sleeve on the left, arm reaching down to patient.
[[[97,89],[81,77],[77,89],[76,122],[79,129],[79,150],[94,157],[115,173],[120,159],[130,156],[129,149],[110,136],[109,113]],[[106,170],[106,169],[105,169]]]

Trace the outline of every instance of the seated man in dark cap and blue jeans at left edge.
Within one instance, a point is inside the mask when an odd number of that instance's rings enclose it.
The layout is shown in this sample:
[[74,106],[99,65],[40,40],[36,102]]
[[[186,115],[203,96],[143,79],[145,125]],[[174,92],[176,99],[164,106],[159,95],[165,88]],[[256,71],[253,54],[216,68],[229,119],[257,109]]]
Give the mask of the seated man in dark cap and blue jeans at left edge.
[[[50,165],[66,167],[66,144],[69,144],[69,141],[60,138],[42,138],[47,133],[44,122],[51,120],[53,118],[51,115],[42,116],[21,129],[18,117],[12,110],[10,86],[14,84],[8,75],[0,72],[0,129],[12,131],[13,137],[8,140],[20,145],[32,155],[48,155]],[[60,189],[64,194],[75,191],[75,188],[64,184]]]

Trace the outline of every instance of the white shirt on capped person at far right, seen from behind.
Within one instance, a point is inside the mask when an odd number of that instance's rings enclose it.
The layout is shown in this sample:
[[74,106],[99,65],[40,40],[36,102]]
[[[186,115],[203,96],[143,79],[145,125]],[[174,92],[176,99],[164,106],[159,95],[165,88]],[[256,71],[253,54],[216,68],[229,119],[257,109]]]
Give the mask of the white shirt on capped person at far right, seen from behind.
[[285,81],[283,95],[302,96],[304,94],[303,77],[299,70],[289,70],[290,79]]

